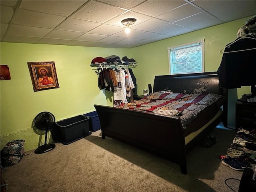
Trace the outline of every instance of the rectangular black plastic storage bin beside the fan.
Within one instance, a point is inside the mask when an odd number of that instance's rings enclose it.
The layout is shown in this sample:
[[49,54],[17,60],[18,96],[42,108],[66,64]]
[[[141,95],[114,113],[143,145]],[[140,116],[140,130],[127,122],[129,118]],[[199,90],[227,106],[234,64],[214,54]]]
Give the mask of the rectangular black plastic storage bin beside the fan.
[[55,122],[53,140],[67,145],[92,134],[89,132],[89,120],[90,118],[79,115]]

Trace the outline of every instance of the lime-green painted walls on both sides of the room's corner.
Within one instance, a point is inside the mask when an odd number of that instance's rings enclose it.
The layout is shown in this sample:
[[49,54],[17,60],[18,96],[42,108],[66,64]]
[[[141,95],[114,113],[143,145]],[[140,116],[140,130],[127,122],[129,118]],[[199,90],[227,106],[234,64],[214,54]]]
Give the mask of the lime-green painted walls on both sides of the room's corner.
[[[99,90],[98,76],[90,62],[93,58],[118,55],[138,61],[133,69],[138,94],[154,82],[154,76],[169,74],[169,46],[205,39],[205,72],[216,71],[222,54],[219,50],[234,41],[246,19],[190,32],[131,49],[93,48],[44,44],[0,44],[1,65],[8,65],[11,80],[0,81],[1,148],[14,139],[24,139],[25,150],[44,142],[44,134],[34,131],[33,119],[42,112],[54,114],[56,121],[94,111],[94,104],[112,106],[112,92]],[[60,88],[34,92],[27,62],[54,61]],[[228,126],[234,127],[235,102],[250,87],[229,90]],[[50,139],[50,138],[49,138]]]

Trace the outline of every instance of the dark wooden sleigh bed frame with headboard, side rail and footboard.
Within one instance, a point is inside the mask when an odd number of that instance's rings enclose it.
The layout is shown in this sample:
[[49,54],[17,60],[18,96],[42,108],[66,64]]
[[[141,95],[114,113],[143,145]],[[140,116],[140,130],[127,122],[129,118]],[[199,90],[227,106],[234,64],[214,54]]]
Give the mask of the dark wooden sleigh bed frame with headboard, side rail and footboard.
[[[190,90],[194,90],[202,82],[208,82],[206,92],[227,96],[227,91],[219,88],[217,72],[156,76],[153,92],[168,89],[174,93],[185,90],[186,93],[190,93]],[[222,115],[185,144],[184,130],[179,117],[166,117],[96,104],[94,107],[100,119],[102,139],[108,136],[170,160],[180,165],[182,174],[187,174],[186,154],[220,122],[223,122],[225,127],[227,124],[227,102],[225,102]]]

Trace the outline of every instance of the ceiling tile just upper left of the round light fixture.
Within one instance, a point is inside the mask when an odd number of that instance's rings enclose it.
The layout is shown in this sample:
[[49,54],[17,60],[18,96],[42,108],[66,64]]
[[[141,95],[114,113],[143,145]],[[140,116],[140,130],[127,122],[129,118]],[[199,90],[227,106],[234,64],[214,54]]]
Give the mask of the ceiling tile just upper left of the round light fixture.
[[125,10],[114,6],[110,6],[96,1],[90,1],[71,17],[87,21],[104,23],[124,12]]

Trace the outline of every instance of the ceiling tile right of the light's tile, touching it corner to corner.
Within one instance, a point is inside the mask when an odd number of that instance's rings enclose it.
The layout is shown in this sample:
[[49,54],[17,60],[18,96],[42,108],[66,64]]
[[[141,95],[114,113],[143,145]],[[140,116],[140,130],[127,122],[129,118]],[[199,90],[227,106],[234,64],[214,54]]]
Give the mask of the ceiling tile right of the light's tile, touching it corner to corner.
[[183,6],[180,6],[174,10],[168,11],[162,15],[157,16],[157,18],[166,20],[169,22],[178,21],[184,18],[187,18],[189,16],[192,16],[194,14],[200,13],[202,10],[196,8],[195,6],[191,4],[185,4]]

